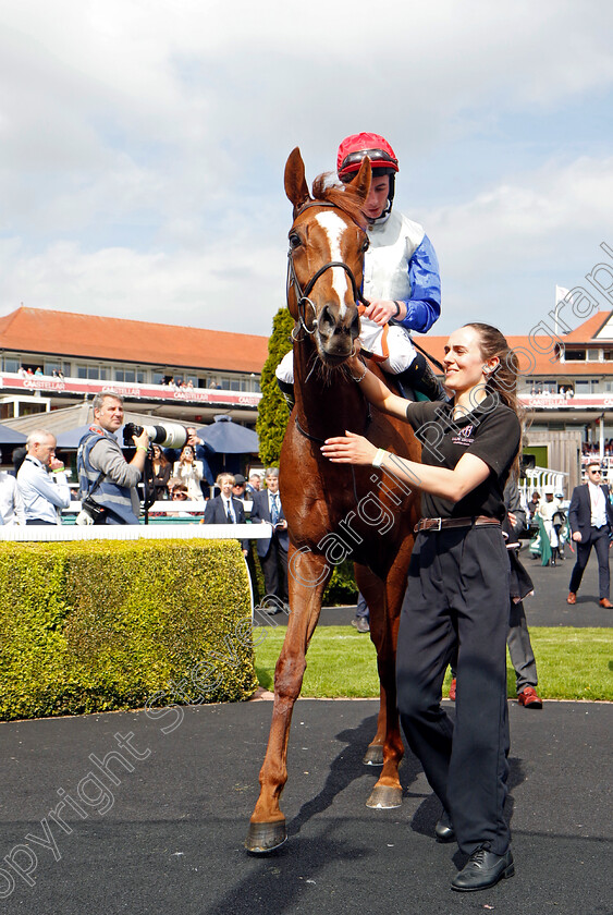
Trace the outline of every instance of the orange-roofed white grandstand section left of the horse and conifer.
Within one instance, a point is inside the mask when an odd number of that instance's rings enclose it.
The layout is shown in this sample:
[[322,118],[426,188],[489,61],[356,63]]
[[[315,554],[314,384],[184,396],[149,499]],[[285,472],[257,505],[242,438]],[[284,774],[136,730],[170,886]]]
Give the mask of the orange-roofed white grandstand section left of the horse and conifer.
[[139,414],[254,426],[268,338],[22,306],[0,318],[0,422],[110,388]]

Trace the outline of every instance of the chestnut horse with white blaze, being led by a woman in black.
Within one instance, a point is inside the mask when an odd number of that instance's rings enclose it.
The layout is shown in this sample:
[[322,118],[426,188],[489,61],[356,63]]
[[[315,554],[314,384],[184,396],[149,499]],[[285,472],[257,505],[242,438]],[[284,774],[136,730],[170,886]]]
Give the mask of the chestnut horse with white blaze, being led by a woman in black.
[[365,762],[381,765],[367,801],[396,807],[402,801],[403,756],[396,710],[395,647],[406,586],[417,497],[393,474],[330,463],[323,440],[346,429],[375,444],[419,460],[408,425],[366,403],[343,363],[359,333],[357,301],[368,245],[361,212],[370,187],[366,159],[344,188],[327,187],[324,175],[311,197],[299,149],[285,166],[285,192],[294,205],[290,230],[287,307],[295,320],[296,405],[281,451],[280,485],[290,533],[287,633],[274,671],[274,705],[260,794],[245,847],[270,852],[286,839],[279,800],[287,779],[286,757],[294,703],[306,669],[305,655],[317,625],[321,598],[334,564],[351,556],[356,581],[370,607],[370,637],[377,648],[380,707],[377,734]]

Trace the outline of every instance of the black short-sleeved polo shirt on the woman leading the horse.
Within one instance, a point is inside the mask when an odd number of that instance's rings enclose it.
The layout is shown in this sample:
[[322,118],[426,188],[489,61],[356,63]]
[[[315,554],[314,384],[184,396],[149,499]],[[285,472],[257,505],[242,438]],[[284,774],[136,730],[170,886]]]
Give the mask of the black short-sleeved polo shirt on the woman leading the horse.
[[522,428],[517,415],[489,395],[459,419],[453,404],[409,403],[406,416],[421,442],[421,463],[453,469],[463,454],[475,454],[490,467],[490,475],[459,502],[421,493],[422,517],[488,515],[501,521],[506,514],[503,491],[517,454]]

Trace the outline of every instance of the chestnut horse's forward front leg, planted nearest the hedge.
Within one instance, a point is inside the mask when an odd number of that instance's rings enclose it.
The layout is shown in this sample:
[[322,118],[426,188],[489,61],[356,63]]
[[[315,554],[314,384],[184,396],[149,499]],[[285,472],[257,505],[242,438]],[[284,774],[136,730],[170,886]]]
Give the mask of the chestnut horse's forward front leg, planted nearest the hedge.
[[290,725],[294,703],[303,685],[306,651],[319,620],[321,597],[330,573],[322,557],[290,548],[290,620],[274,669],[272,723],[259,774],[260,793],[245,841],[245,847],[254,854],[270,852],[287,838],[279,801],[287,780]]

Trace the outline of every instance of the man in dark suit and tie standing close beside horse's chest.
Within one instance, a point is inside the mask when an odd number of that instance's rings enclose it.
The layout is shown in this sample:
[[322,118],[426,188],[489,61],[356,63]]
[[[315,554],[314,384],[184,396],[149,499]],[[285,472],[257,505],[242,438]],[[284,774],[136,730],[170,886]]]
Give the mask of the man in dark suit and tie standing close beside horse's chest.
[[290,536],[287,534],[287,522],[281,505],[279,471],[277,467],[267,469],[266,486],[266,489],[254,493],[252,523],[258,524],[268,521],[272,524],[272,537],[270,540],[257,540],[257,550],[263,572],[266,596],[277,598],[277,600],[271,601],[272,606],[268,611],[270,615],[273,615],[281,612],[280,603],[287,603],[290,600],[287,591]]

